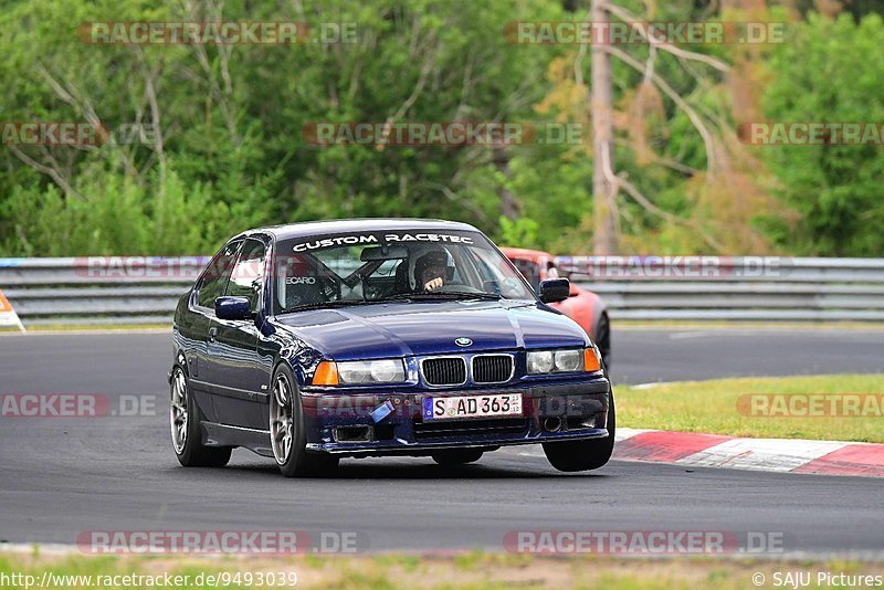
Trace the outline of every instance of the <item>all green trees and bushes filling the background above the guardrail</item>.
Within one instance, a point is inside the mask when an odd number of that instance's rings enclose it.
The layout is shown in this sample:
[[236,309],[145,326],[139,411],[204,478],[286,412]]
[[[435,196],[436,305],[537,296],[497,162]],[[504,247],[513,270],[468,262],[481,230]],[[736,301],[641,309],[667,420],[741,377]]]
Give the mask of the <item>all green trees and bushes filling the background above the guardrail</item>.
[[[717,9],[690,3],[618,3],[655,21],[725,18]],[[589,55],[581,62],[580,85],[575,76],[579,48],[514,45],[503,34],[513,21],[579,20],[586,0],[228,0],[218,12],[219,6],[4,3],[0,119],[97,117],[109,128],[157,124],[162,140],[90,149],[4,146],[0,255],[204,254],[249,226],[350,217],[454,219],[512,245],[590,252],[588,143],[504,150],[317,147],[303,133],[320,122],[555,120],[582,124],[588,141]],[[129,46],[87,44],[76,35],[85,21],[222,19],[350,22],[357,42]],[[859,24],[813,13],[808,19],[790,25],[797,30],[793,41],[747,52],[748,57],[729,45],[688,49],[730,62],[747,59],[749,70],[769,72],[774,83],[764,108],[770,119],[884,120],[884,65],[872,59],[884,41],[881,19],[865,17]],[[648,48],[624,51],[641,63],[649,59]],[[714,126],[735,123],[723,76],[704,67],[685,67],[661,51],[654,60],[654,72]],[[779,187],[778,196],[800,222],[758,217],[751,211],[755,201],[744,201],[743,211],[733,202],[723,206],[739,197],[741,185],[719,179],[711,189],[698,179],[707,157],[697,130],[669,97],[655,103],[655,96],[645,96],[644,106],[635,101],[643,75],[614,61],[619,143],[613,160],[617,171],[659,208],[707,224],[732,254],[767,247],[745,238],[751,224],[753,232],[785,252],[881,255],[880,146],[764,148],[767,168],[759,169],[759,181]],[[643,134],[642,152],[624,144],[636,134]],[[728,186],[730,194],[720,190]],[[690,225],[655,215],[627,196],[619,209],[624,250],[708,251]],[[504,213],[508,217],[502,220]]]

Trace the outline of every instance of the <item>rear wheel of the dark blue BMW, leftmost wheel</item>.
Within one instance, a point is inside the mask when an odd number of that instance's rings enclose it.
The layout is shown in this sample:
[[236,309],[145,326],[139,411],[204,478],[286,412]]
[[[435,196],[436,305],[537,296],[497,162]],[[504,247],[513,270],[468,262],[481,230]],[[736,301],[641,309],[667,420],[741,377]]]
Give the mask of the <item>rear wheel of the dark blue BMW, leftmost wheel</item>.
[[230,461],[230,446],[204,446],[200,432],[200,411],[187,372],[180,365],[172,368],[169,391],[169,429],[172,450],[185,467],[223,467]]

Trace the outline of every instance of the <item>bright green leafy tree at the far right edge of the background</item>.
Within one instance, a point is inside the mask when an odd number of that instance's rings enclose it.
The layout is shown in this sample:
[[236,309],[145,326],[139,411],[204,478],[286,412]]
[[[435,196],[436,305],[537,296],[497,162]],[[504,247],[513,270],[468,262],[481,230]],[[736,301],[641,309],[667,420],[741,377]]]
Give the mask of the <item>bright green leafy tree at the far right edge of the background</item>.
[[[771,122],[884,120],[884,21],[810,14],[774,54],[764,96]],[[810,255],[884,255],[881,145],[766,146],[778,193],[802,215],[798,228],[767,220],[790,250]]]

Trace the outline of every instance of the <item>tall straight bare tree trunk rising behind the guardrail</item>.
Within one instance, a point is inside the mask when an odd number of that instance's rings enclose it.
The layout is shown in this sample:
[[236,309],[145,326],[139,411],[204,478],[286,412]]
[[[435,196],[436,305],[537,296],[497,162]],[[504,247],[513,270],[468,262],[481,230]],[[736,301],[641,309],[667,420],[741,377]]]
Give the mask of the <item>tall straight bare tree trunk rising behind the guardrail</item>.
[[[590,21],[606,22],[610,14],[603,2],[592,0]],[[613,141],[613,85],[611,82],[611,57],[596,43],[592,44],[592,249],[596,255],[613,254],[617,251],[617,185],[606,173],[614,170]]]

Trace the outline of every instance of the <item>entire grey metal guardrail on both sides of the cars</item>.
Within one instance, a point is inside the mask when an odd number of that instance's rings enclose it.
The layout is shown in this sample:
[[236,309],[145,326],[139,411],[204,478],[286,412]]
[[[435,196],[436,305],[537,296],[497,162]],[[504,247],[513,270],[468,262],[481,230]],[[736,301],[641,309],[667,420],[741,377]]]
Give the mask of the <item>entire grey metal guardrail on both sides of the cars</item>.
[[[25,326],[168,324],[207,256],[0,259]],[[884,259],[559,256],[617,319],[884,322]]]

